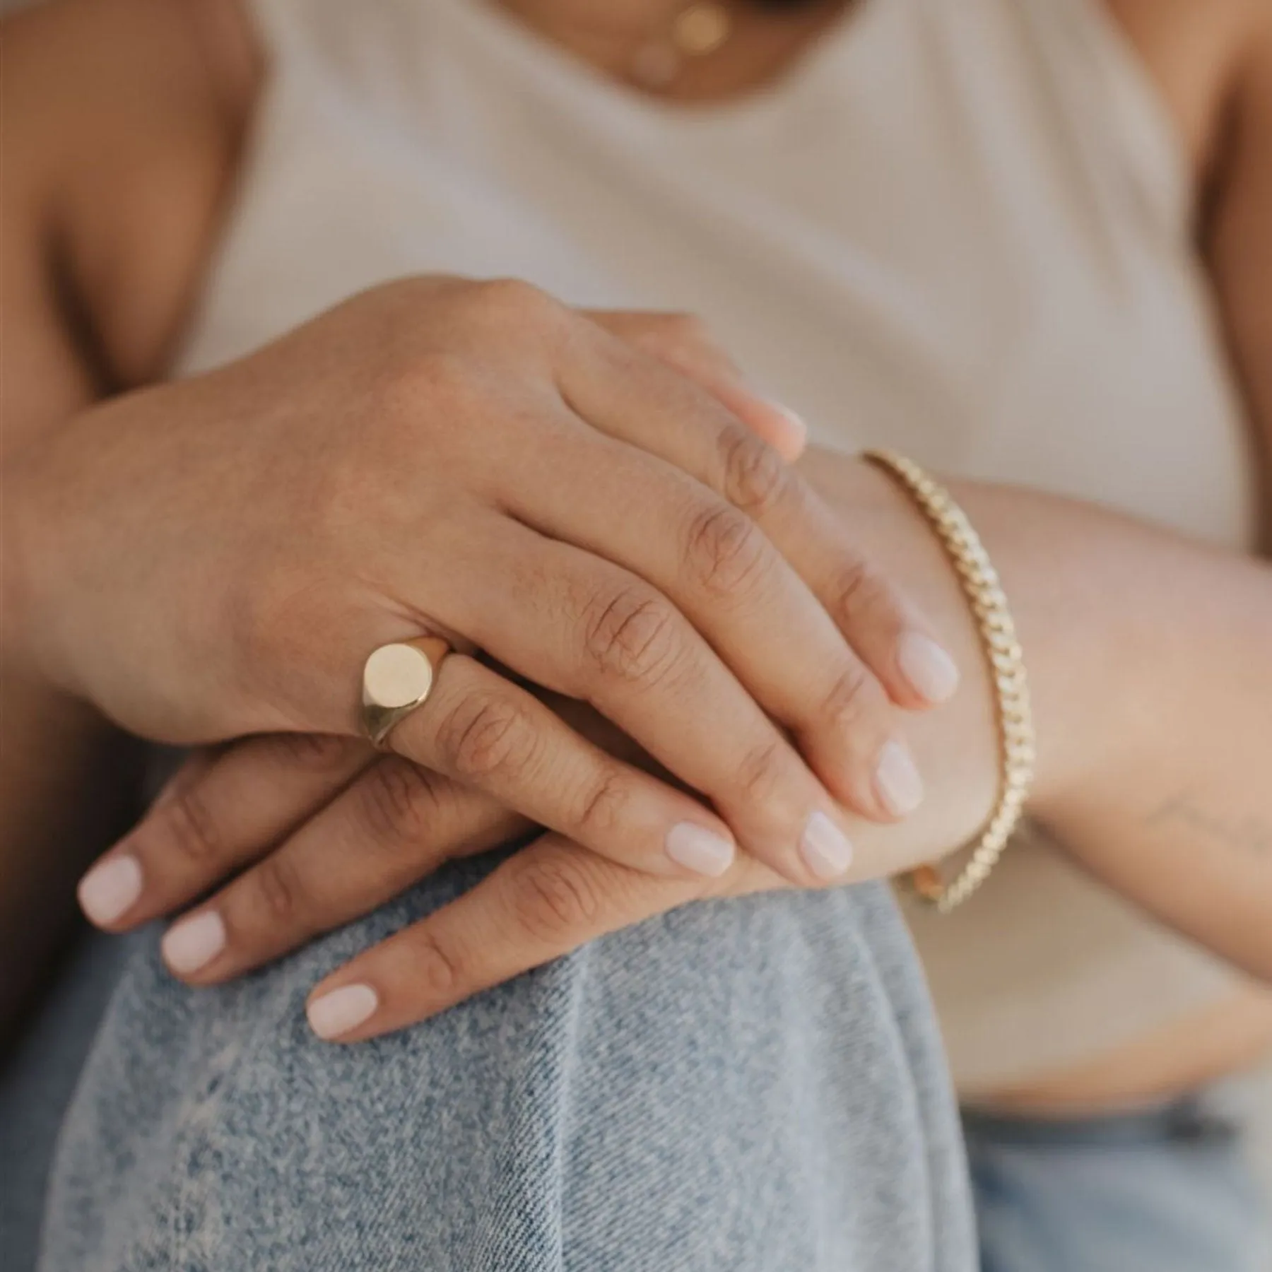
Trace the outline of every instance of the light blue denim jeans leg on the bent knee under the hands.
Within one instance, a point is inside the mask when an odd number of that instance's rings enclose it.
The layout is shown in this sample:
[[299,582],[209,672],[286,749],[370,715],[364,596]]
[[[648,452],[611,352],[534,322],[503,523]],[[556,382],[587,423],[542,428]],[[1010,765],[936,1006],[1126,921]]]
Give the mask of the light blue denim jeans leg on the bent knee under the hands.
[[135,939],[41,1272],[973,1272],[957,1110],[881,887],[686,907],[393,1037],[309,1033],[319,977],[487,868],[216,990]]

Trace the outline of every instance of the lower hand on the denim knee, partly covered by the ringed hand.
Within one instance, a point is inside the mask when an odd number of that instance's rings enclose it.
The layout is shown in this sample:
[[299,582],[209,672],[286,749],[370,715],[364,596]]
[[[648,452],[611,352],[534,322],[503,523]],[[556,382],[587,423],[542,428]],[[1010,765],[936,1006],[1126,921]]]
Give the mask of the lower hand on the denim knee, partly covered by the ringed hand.
[[[929,800],[903,823],[862,819],[854,827],[857,852],[842,881],[855,883],[948,852],[983,827],[997,787],[997,733],[979,639],[926,523],[869,464],[828,453],[812,462],[846,520],[845,533],[870,542],[922,598],[969,673],[949,706],[907,716],[907,733],[931,764]],[[547,705],[602,749],[650,763],[580,703],[548,697]],[[538,833],[491,796],[357,740],[251,738],[191,759],[103,859],[116,868],[132,859],[136,871],[122,921],[106,926],[122,931],[204,897],[169,931],[164,955],[183,981],[215,985],[370,912],[450,857],[524,838],[525,846],[471,892],[357,955],[313,991],[318,1032],[357,1042],[687,902],[787,887],[747,854],[719,878],[674,879]],[[354,986],[364,988],[324,1002],[331,991]],[[343,1016],[340,1006],[347,1009]],[[368,1014],[355,1021],[356,1006]]]

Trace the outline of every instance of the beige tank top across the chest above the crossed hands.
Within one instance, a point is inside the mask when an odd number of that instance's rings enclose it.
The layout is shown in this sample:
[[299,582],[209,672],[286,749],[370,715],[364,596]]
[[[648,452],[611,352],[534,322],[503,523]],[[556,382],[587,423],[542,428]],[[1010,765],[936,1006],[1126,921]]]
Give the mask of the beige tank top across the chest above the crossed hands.
[[780,114],[683,130],[551,76],[510,92],[463,41],[406,95],[293,67],[183,366],[403,273],[511,275],[701,314],[823,443],[1249,543],[1250,439],[1166,196],[1049,118],[1060,89],[1004,42],[951,85],[958,50],[912,36],[878,18]]

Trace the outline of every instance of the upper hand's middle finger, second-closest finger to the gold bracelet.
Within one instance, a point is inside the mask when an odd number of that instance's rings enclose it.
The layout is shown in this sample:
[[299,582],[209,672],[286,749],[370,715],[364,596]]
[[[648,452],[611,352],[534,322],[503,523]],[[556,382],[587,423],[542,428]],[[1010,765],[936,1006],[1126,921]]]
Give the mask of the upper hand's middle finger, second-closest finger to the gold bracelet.
[[922,784],[887,695],[759,525],[672,464],[584,427],[553,455],[570,497],[527,487],[513,511],[670,598],[837,800],[876,820],[912,813]]

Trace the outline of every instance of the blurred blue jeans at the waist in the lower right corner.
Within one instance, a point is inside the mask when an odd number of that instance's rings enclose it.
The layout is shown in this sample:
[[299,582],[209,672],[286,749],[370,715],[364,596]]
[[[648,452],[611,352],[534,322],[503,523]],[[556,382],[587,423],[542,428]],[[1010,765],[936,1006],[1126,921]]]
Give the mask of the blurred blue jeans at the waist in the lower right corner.
[[965,1128],[982,1272],[1272,1272],[1240,1131],[1206,1098]]

